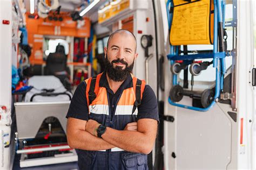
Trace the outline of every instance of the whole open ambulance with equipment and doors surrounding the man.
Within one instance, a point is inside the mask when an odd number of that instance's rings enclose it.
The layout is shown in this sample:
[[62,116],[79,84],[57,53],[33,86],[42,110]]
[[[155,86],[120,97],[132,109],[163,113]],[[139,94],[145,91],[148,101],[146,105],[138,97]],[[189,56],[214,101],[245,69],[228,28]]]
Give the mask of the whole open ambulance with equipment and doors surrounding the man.
[[149,169],[255,169],[255,9],[253,0],[1,1],[0,169],[78,169],[65,116],[78,84],[104,71],[118,29],[137,38],[133,74],[158,99]]

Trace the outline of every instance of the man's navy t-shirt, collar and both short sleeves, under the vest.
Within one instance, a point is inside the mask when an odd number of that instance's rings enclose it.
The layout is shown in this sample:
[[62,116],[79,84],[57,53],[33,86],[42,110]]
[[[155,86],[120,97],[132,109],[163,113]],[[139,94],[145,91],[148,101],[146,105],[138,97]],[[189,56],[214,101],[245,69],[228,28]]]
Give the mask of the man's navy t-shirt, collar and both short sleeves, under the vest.
[[[111,117],[113,116],[114,108],[116,107],[117,100],[119,96],[122,94],[123,90],[129,87],[132,87],[132,77],[129,76],[120,86],[120,88],[114,94],[113,91],[109,87],[109,83],[106,79],[106,74],[103,73],[102,77],[100,78],[100,86],[105,87],[107,89],[107,94],[109,96],[109,102],[111,104]],[[72,117],[77,119],[82,119],[87,121],[89,119],[88,116],[88,107],[87,107],[87,100],[85,96],[86,91],[86,83],[81,82],[70,103],[68,114],[66,118]],[[154,94],[154,91],[149,85],[145,86],[142,102],[138,106],[138,115],[137,119],[142,118],[151,118],[155,119],[159,123],[159,116],[158,116],[158,105],[157,105],[157,98]]]

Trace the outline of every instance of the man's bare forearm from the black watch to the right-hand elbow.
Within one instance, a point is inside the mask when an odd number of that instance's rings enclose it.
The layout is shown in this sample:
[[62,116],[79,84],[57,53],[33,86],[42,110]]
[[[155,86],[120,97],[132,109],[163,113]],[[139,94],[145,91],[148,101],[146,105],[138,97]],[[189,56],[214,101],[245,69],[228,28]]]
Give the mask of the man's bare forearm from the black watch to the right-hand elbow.
[[[115,130],[107,128],[102,138],[125,151],[145,153],[151,152],[153,146],[144,133],[138,131]],[[151,149],[149,149],[151,148]]]

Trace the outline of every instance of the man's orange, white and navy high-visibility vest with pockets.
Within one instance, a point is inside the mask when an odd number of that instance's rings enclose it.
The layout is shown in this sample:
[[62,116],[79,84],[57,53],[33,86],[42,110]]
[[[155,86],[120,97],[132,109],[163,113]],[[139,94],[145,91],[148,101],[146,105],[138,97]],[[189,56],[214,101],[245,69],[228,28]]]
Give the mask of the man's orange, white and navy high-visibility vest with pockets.
[[[112,129],[124,130],[126,124],[137,121],[137,107],[142,101],[145,81],[131,75],[132,82],[129,87],[126,86],[122,94],[119,95],[117,103],[111,105],[107,89],[99,84],[102,75],[98,74],[85,80],[89,119]],[[111,107],[113,107],[112,116]],[[78,150],[78,154],[80,154],[78,158],[84,162],[83,165],[80,165],[82,169],[127,169],[131,167],[148,169],[146,154],[127,152],[119,147],[104,151]]]

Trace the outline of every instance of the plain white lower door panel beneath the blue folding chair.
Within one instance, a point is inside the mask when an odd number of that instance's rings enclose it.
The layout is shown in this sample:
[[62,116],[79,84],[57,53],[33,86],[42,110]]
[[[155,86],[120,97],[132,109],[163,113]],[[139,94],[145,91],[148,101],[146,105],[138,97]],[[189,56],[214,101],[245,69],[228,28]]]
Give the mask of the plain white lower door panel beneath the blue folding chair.
[[218,105],[207,112],[177,108],[176,121],[177,169],[226,168],[231,159],[231,121]]

